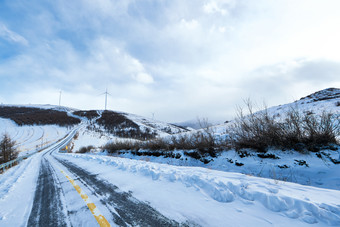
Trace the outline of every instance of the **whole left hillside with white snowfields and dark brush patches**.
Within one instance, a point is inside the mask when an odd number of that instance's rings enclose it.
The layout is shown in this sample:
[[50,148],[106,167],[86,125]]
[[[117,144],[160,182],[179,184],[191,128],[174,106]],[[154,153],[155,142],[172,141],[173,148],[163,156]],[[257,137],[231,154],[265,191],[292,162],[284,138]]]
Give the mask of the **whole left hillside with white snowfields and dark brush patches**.
[[21,155],[55,142],[80,122],[84,127],[78,133],[78,142],[75,140],[70,146],[73,151],[88,145],[99,147],[110,140],[140,140],[187,131],[124,112],[81,111],[53,105],[1,105],[0,120],[0,133],[9,133]]

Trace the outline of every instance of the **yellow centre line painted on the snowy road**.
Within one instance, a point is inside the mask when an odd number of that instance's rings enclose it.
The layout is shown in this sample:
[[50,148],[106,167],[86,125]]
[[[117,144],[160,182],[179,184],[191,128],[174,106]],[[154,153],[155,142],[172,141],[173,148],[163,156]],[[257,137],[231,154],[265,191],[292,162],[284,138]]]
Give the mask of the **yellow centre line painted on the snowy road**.
[[71,182],[73,187],[76,189],[76,191],[79,193],[81,198],[85,201],[87,207],[90,209],[91,213],[97,220],[99,226],[101,227],[109,227],[111,226],[110,223],[106,220],[106,218],[100,213],[99,209],[90,201],[90,198],[81,190],[80,186],[77,185],[77,183],[69,176],[66,175],[64,171],[61,170],[61,172],[65,175],[65,177]]

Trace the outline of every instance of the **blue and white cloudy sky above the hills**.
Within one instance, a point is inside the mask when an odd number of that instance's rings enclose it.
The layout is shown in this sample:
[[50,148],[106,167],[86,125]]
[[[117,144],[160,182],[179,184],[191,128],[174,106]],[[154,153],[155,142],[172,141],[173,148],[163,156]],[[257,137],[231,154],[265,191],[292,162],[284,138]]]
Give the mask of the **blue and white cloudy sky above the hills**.
[[0,102],[224,121],[340,87],[338,0],[0,0]]

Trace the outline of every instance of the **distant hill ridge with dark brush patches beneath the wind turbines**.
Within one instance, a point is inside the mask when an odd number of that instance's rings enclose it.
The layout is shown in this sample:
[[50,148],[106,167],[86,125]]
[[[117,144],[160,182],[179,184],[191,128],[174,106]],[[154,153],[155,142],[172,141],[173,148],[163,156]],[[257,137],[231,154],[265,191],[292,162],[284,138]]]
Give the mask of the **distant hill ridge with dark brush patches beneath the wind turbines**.
[[54,105],[0,105],[0,118],[17,125],[72,126],[83,122],[89,127],[118,137],[150,139],[187,131],[181,126],[111,110],[76,110]]

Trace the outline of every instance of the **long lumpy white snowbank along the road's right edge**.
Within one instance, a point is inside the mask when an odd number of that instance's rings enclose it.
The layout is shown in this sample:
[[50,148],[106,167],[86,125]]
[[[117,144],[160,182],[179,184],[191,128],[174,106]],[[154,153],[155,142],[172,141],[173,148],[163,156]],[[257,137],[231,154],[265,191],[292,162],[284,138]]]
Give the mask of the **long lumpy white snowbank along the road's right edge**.
[[306,223],[340,225],[340,191],[302,186],[277,180],[227,173],[199,167],[165,164],[97,155],[59,154],[113,166],[154,181],[181,182],[220,203],[241,201]]

